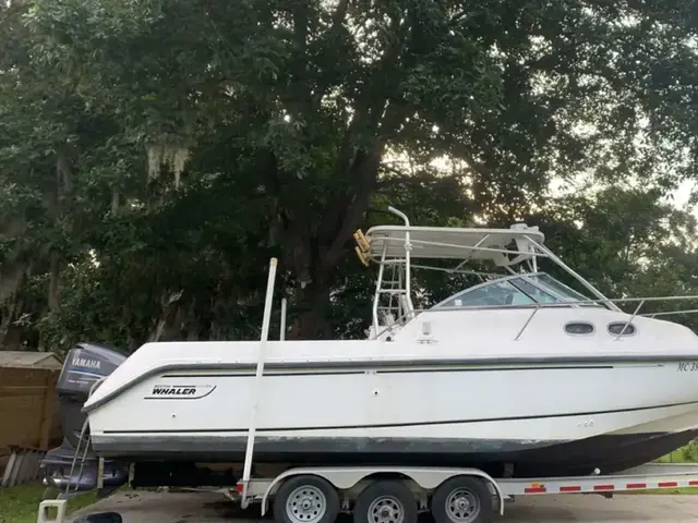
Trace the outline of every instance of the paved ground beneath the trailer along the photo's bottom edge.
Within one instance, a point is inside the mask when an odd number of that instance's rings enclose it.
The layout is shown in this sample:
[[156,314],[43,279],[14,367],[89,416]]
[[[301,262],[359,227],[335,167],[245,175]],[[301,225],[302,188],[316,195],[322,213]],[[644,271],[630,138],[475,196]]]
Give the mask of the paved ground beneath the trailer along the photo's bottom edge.
[[[115,511],[123,523],[252,523],[261,521],[256,512],[244,514],[222,496],[151,491],[118,492],[72,519],[88,513]],[[269,518],[265,520],[272,521]],[[698,496],[601,496],[521,497],[505,506],[497,523],[684,523],[698,520]],[[263,521],[263,520],[262,520]],[[340,523],[351,519],[342,516]],[[429,518],[425,520],[429,521]]]

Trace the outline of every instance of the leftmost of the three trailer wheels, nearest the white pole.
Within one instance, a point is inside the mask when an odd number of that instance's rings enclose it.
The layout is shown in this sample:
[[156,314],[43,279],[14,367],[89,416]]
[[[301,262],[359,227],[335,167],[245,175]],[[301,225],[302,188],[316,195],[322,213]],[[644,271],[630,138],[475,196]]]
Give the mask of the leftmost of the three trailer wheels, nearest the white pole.
[[339,494],[320,476],[293,476],[281,484],[274,498],[276,523],[335,523]]

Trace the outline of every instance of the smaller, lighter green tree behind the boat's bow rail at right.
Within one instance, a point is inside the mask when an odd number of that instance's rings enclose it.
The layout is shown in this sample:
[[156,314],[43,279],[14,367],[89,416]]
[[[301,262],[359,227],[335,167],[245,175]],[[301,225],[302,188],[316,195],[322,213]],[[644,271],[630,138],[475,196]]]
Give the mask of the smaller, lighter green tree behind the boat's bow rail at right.
[[[613,185],[558,198],[527,219],[545,223],[546,244],[607,296],[698,295],[696,218],[661,202],[660,194]],[[558,268],[550,269],[579,289]],[[619,305],[633,312],[639,303]],[[640,314],[696,308],[698,301],[648,302]],[[694,315],[666,319],[698,329]]]

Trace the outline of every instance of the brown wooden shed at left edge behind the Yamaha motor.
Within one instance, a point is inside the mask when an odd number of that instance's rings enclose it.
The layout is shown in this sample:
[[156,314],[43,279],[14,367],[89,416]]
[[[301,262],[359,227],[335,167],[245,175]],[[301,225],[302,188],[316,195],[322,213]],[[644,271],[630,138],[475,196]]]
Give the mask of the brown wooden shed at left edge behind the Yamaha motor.
[[56,382],[62,366],[50,352],[0,351],[0,474],[9,445],[60,445]]

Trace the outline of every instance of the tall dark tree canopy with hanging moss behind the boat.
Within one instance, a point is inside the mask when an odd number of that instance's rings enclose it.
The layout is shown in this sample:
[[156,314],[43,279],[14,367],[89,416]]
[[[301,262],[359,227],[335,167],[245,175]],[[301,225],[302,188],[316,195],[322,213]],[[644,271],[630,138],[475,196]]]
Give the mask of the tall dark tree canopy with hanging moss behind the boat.
[[[374,275],[346,254],[387,204],[539,223],[604,292],[693,292],[695,223],[660,202],[697,178],[695,8],[13,1],[1,336],[253,337],[270,256],[293,336],[363,336]],[[421,305],[464,284],[437,276]]]

